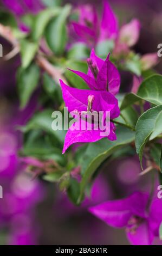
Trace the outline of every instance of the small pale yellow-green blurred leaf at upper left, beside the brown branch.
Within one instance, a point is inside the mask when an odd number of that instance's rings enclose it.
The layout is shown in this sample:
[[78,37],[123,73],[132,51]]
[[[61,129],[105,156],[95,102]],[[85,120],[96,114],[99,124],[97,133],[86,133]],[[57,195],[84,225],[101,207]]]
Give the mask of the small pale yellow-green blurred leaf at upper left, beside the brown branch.
[[30,42],[26,39],[21,40],[20,51],[22,58],[22,68],[26,69],[35,57],[38,50],[38,44],[36,42]]

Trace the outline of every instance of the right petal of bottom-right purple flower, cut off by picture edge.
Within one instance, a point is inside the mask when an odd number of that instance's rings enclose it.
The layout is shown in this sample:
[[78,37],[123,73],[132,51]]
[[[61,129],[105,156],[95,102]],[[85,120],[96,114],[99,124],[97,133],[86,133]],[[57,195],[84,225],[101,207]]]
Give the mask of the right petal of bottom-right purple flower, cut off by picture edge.
[[150,209],[149,223],[155,236],[159,235],[159,227],[162,222],[162,200],[154,199]]

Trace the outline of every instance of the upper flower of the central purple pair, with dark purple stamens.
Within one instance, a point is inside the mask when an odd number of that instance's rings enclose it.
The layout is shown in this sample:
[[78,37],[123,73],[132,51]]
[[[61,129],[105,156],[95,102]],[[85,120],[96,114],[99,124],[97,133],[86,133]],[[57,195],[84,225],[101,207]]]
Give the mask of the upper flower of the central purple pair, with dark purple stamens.
[[91,90],[108,91],[113,95],[119,92],[120,74],[115,65],[109,60],[109,54],[106,60],[96,56],[94,49],[90,53],[90,58],[87,59],[88,74],[81,71],[75,71],[89,86]]

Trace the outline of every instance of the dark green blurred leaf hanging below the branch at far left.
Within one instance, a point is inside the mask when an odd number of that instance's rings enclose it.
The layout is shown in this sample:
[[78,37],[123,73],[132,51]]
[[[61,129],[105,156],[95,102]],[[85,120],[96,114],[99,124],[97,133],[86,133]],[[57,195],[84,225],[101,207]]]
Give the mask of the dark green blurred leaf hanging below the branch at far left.
[[31,95],[38,86],[40,78],[40,69],[37,65],[31,64],[27,69],[18,69],[17,72],[17,87],[20,97],[20,108],[27,106]]

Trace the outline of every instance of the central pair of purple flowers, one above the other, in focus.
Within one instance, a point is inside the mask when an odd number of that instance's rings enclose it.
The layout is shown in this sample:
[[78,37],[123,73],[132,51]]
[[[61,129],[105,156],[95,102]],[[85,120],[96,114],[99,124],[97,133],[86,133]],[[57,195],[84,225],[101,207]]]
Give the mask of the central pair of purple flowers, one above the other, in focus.
[[[88,85],[90,90],[81,90],[68,87],[61,80],[61,88],[63,100],[69,112],[81,113],[81,112],[97,112],[106,111],[110,113],[110,119],[117,118],[120,114],[118,107],[118,100],[115,98],[115,94],[119,92],[120,87],[120,75],[114,64],[110,62],[109,55],[106,60],[100,59],[95,55],[94,50],[90,54],[88,62],[88,74],[84,74],[80,71],[74,71],[76,75],[80,76]],[[90,106],[90,108],[89,108]],[[106,119],[105,116],[103,118]],[[104,120],[103,120],[104,121]],[[102,127],[100,129],[82,130],[80,120],[75,121],[75,126],[79,122],[79,129],[73,129],[73,125],[69,127],[64,141],[63,153],[73,143],[77,142],[95,142],[103,138],[101,136]],[[83,122],[83,120],[82,120]],[[85,120],[87,123],[87,120]],[[95,126],[95,124],[94,124]],[[114,141],[115,125],[110,122],[109,135],[106,136],[109,140]]]

